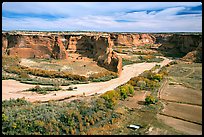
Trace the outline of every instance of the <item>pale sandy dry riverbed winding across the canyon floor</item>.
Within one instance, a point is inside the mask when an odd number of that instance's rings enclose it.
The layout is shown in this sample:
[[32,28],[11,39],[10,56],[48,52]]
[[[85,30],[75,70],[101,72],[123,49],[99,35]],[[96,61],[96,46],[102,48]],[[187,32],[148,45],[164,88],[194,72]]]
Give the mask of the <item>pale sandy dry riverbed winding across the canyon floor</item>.
[[[106,82],[97,82],[90,84],[77,84],[77,90],[73,91],[56,91],[50,94],[41,95],[33,92],[20,92],[22,90],[35,87],[35,85],[23,84],[15,80],[3,80],[2,81],[2,100],[10,98],[22,98],[31,102],[35,101],[48,101],[48,100],[59,100],[70,96],[81,96],[85,93],[86,96],[93,94],[102,94],[108,90],[115,89],[116,87],[128,82],[132,77],[138,76],[145,70],[150,70],[156,64],[164,66],[171,62],[165,58],[161,63],[136,63],[123,67],[121,76]],[[67,86],[62,86],[63,89],[67,89]]]

